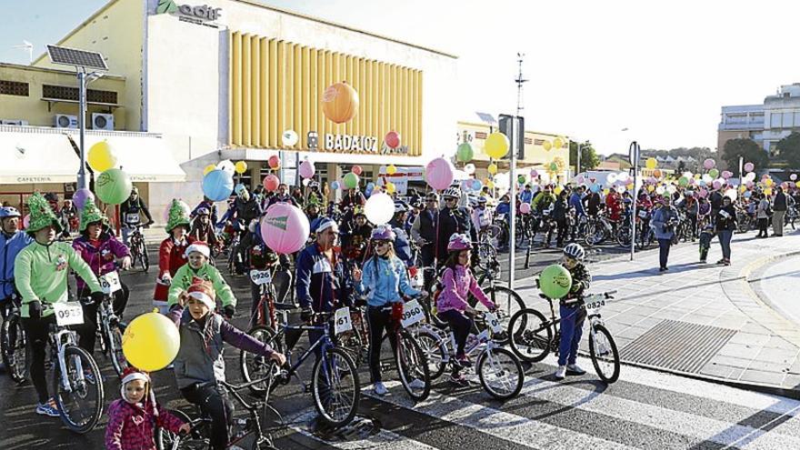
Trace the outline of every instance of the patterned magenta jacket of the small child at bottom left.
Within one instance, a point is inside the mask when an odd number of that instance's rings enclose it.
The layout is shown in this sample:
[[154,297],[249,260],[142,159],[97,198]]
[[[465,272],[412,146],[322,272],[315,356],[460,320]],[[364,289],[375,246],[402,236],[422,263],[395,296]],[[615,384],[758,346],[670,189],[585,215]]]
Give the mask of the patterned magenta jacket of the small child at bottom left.
[[155,450],[155,426],[177,433],[183,421],[161,405],[155,415],[153,404],[131,405],[119,398],[108,406],[108,425],[105,426],[107,450]]

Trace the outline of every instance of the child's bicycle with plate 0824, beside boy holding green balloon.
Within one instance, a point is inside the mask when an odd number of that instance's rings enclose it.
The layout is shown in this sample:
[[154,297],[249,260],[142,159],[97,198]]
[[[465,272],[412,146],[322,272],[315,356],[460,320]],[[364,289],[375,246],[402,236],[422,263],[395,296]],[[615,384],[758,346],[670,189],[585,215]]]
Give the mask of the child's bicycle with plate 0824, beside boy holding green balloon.
[[[605,328],[600,317],[600,309],[605,301],[614,298],[616,291],[603,294],[585,295],[584,303],[575,314],[583,314],[589,321],[589,355],[595,366],[597,376],[605,383],[614,383],[619,377],[619,351],[614,338]],[[518,311],[508,324],[508,335],[511,336],[511,349],[515,355],[525,362],[538,362],[553,352],[558,355],[561,332],[557,326],[561,318],[555,318],[553,299],[541,294],[550,302],[550,319],[533,308]]]

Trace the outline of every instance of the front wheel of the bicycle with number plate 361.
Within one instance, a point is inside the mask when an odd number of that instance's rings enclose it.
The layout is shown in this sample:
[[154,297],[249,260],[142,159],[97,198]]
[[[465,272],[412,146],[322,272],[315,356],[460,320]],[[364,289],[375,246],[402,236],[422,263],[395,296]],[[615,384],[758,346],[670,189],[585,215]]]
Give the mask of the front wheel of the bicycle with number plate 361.
[[344,351],[330,347],[312,369],[311,394],[320,418],[327,425],[344,426],[353,420],[361,395],[355,364]]

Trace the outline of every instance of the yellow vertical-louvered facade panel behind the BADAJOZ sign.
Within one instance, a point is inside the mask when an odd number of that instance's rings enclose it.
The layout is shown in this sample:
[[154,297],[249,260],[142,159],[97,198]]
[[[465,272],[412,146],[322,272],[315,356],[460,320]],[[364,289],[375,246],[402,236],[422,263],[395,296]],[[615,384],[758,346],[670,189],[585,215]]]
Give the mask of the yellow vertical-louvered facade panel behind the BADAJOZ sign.
[[[315,131],[319,151],[335,151],[325,147],[325,135],[350,135],[375,139],[381,153],[383,137],[394,130],[407,149],[395,155],[422,155],[421,70],[239,32],[228,45],[232,147],[289,149],[281,134],[295,130],[300,142],[293,150],[309,150],[307,135]],[[352,85],[360,101],[345,124],[327,120],[320,103],[325,88],[339,81]]]

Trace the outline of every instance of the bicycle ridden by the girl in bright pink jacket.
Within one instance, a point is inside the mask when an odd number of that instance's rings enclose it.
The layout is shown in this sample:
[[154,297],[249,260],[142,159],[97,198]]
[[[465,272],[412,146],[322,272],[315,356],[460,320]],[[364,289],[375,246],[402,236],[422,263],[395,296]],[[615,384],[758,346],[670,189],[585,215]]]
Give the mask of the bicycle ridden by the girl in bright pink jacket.
[[[495,333],[505,332],[503,325],[492,312],[477,312],[475,321],[483,329],[478,335],[470,334],[466,340],[465,355],[477,355],[475,373],[489,395],[506,400],[519,395],[525,381],[525,371],[519,358],[496,343]],[[455,335],[445,326],[428,325],[420,327],[415,338],[427,358],[431,379],[435,380],[445,373],[449,366],[453,371],[460,370],[455,360]]]

